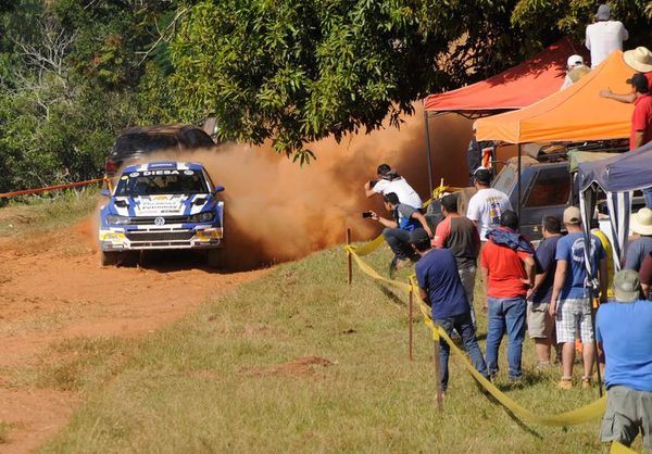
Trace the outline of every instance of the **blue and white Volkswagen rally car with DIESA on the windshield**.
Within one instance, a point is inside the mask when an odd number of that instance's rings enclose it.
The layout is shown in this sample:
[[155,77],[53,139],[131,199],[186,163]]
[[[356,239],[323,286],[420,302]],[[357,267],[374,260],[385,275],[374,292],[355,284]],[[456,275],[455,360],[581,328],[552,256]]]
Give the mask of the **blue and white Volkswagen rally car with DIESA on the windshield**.
[[224,202],[216,199],[201,164],[151,162],[125,167],[109,203],[100,209],[101,264],[127,251],[205,249],[218,266],[223,248]]

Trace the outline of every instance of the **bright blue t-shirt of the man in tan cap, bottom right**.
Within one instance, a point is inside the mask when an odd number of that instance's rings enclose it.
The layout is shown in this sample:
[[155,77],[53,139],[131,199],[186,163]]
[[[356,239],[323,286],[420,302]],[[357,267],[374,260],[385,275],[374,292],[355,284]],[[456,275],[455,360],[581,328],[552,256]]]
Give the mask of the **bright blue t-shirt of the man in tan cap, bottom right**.
[[652,302],[601,304],[595,337],[604,349],[606,388],[620,384],[652,391]]

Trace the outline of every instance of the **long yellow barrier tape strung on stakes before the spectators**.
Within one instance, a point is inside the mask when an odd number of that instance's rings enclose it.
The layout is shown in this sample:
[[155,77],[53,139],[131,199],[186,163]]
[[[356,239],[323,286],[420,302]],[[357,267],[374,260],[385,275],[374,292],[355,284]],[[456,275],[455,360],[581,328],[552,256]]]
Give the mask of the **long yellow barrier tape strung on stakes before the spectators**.
[[604,411],[606,409],[606,396],[603,396],[580,408],[576,408],[557,415],[539,416],[530,412],[529,409],[521,406],[517,402],[510,399],[506,394],[504,394],[498,388],[496,388],[494,384],[492,384],[489,380],[482,377],[482,375],[478,373],[475,369],[475,367],[473,367],[473,365],[466,357],[466,354],[462,350],[460,350],[457,345],[455,345],[455,343],[448,337],[446,331],[443,331],[440,327],[435,325],[432,318],[430,317],[430,307],[428,307],[428,305],[421,298],[419,289],[414,277],[410,278],[409,285],[400,282],[398,280],[385,278],[359,256],[356,252],[358,250],[360,250],[359,248],[347,245],[344,247],[344,250],[351,253],[360,269],[371,278],[387,282],[405,291],[412,291],[416,297],[416,301],[418,302],[419,310],[424,316],[425,325],[429,328],[430,332],[432,333],[432,339],[443,339],[451,346],[453,353],[462,360],[462,364],[468,370],[468,373],[476,379],[476,381],[478,381],[505,408],[507,408],[521,419],[532,424],[539,424],[542,426],[574,426],[601,418],[604,414]]

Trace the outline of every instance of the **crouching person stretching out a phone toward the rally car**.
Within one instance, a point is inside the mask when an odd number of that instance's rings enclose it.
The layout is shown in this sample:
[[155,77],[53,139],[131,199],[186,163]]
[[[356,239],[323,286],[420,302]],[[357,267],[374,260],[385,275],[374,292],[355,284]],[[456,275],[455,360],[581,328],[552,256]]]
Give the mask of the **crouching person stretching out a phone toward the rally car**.
[[389,265],[389,273],[394,269],[404,268],[410,265],[410,257],[414,255],[410,247],[410,232],[414,229],[423,228],[429,238],[432,238],[432,231],[426,223],[426,218],[413,206],[399,202],[399,197],[390,192],[383,196],[385,209],[391,213],[392,218],[387,219],[372,213],[372,219],[378,220],[385,226],[383,237],[394,253],[394,257]]

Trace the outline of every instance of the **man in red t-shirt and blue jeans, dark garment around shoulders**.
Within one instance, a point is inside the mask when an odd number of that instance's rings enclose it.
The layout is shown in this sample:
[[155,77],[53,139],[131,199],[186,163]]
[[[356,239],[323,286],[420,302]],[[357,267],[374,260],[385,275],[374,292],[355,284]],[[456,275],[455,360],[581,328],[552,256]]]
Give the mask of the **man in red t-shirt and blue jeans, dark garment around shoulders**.
[[517,381],[525,338],[525,295],[535,281],[534,250],[518,232],[518,217],[507,210],[500,228],[490,230],[480,252],[480,267],[487,286],[487,370],[498,373],[498,349],[507,332],[509,379]]

